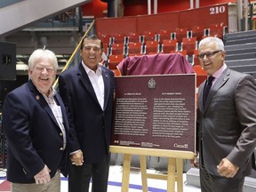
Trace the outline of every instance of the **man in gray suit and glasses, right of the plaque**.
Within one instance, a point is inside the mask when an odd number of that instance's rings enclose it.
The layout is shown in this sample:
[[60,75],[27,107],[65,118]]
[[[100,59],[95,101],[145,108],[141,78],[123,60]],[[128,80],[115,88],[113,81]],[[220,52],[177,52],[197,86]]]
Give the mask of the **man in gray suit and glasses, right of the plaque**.
[[[203,192],[243,191],[244,177],[255,165],[256,82],[228,68],[225,55],[218,37],[206,37],[199,44],[198,58],[207,73],[198,90],[196,121]],[[193,163],[197,165],[196,158]]]

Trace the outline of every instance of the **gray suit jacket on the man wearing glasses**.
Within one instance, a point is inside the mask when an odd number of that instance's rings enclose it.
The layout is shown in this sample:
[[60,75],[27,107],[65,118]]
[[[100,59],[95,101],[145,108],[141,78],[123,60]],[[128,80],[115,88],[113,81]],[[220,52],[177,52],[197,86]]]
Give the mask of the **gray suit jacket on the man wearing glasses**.
[[[198,90],[197,146],[213,175],[222,158],[239,166],[236,178],[250,174],[256,146],[256,82],[252,76],[226,68],[212,85],[203,108],[204,84]],[[202,151],[203,149],[203,151]]]

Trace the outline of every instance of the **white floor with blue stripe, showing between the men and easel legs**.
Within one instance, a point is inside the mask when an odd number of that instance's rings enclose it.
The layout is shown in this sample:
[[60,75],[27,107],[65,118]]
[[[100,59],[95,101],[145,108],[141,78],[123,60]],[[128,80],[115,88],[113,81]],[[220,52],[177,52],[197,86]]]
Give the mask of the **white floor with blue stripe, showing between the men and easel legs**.
[[[108,178],[108,192],[121,192],[122,186],[122,172],[123,167],[112,165],[109,170]],[[151,173],[157,173],[154,170],[148,170]],[[162,172],[160,172],[162,173]],[[0,186],[4,181],[4,172],[0,172]],[[183,174],[183,192],[200,192],[200,188],[186,185],[186,173]],[[167,183],[166,180],[152,180],[148,179],[148,192],[164,192],[166,191]],[[1,190],[0,190],[1,191]],[[131,169],[129,192],[140,192],[141,189],[141,175],[140,169]],[[177,188],[175,189],[177,191]],[[68,192],[68,179],[61,177],[61,192]]]

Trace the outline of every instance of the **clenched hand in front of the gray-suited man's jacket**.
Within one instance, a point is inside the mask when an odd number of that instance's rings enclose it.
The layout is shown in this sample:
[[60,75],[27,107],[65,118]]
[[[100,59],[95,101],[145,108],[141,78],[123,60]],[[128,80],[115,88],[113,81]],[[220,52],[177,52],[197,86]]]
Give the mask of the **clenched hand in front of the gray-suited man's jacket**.
[[232,164],[227,158],[223,158],[217,166],[217,169],[221,176],[233,178],[236,172],[238,172],[239,167],[236,166],[236,164]]

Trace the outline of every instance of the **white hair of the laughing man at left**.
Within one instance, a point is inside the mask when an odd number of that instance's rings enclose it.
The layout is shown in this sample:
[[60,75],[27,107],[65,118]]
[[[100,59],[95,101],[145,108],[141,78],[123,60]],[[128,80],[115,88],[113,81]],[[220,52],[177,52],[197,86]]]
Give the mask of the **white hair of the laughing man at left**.
[[58,69],[58,60],[54,52],[45,49],[36,49],[28,59],[28,68],[34,68],[37,60],[48,59],[55,71]]

